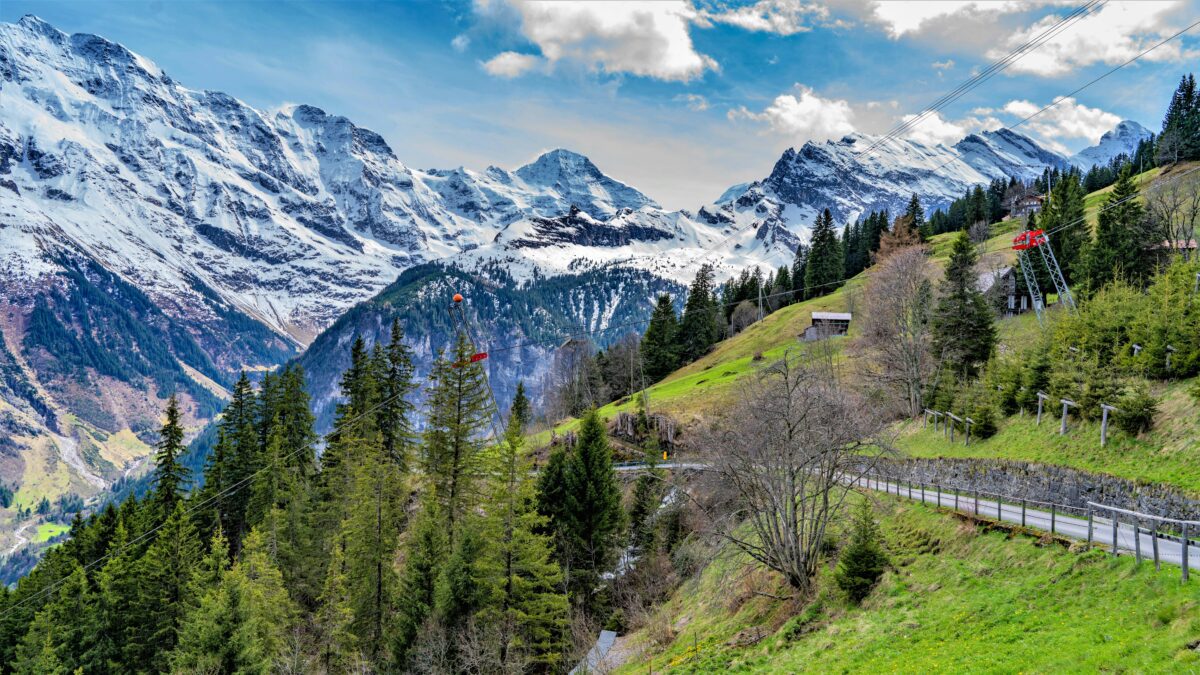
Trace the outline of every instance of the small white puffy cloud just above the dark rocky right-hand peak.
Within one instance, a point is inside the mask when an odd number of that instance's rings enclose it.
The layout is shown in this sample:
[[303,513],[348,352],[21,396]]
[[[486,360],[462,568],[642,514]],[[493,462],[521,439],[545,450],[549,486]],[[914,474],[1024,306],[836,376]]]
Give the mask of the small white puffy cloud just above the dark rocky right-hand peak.
[[793,143],[841,138],[854,131],[854,110],[848,101],[822,98],[803,84],[797,84],[796,90],[796,94],[776,96],[761,113],[743,106],[730,110],[728,117],[766,124]]

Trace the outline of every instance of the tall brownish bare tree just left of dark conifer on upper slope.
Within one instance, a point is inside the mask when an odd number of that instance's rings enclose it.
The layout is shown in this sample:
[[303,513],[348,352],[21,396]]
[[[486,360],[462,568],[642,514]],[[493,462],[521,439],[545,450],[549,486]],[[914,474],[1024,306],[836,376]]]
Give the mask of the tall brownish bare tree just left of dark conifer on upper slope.
[[924,384],[937,368],[931,347],[934,289],[929,270],[922,246],[883,258],[866,281],[863,331],[854,342],[866,357],[864,377],[893,392],[910,417],[924,408]]

